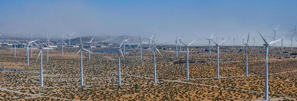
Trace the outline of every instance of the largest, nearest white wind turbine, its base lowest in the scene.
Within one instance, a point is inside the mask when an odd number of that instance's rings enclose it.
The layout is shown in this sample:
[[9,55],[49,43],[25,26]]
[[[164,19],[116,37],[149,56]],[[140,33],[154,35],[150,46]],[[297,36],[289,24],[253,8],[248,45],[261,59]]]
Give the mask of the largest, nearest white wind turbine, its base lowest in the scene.
[[[258,30],[257,30],[258,31]],[[264,93],[264,97],[265,97],[265,100],[269,99],[268,98],[268,47],[270,44],[274,43],[274,42],[277,42],[281,39],[278,39],[278,40],[275,40],[275,41],[272,41],[272,42],[267,42],[264,37],[261,35],[261,33],[258,31],[258,33],[260,34],[260,36],[262,37],[263,41],[265,42],[263,45],[265,46],[265,52],[266,52],[266,55],[265,55],[265,93]]]

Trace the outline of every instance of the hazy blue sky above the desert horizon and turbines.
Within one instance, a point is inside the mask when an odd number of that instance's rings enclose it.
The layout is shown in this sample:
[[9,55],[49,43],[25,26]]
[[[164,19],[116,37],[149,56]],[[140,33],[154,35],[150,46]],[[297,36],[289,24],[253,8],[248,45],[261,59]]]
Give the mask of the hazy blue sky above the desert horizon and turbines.
[[[182,33],[189,42],[215,32],[214,40],[225,36],[227,43],[233,43],[231,37],[236,36],[236,42],[242,43],[248,32],[260,39],[255,29],[272,38],[278,24],[278,36],[294,29],[297,1],[0,1],[0,32],[22,36],[157,33],[160,43],[173,43]],[[207,41],[199,38],[195,44]]]

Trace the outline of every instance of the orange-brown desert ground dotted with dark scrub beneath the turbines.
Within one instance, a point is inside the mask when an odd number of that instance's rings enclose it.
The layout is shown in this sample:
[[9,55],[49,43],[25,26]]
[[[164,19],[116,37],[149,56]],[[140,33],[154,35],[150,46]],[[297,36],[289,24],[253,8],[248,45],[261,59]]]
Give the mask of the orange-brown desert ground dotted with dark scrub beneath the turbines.
[[[161,46],[160,46],[161,47]],[[194,47],[193,47],[194,48]],[[26,50],[1,47],[0,100],[259,100],[264,99],[265,49],[249,47],[249,77],[245,77],[245,53],[238,48],[222,48],[220,75],[216,78],[214,51],[209,57],[202,48],[189,52],[189,78],[186,80],[186,53],[160,51],[156,54],[157,83],[154,83],[153,56],[144,50],[126,52],[121,60],[122,85],[118,85],[118,54],[94,53],[88,61],[83,53],[84,86],[80,86],[79,48],[43,50],[43,85],[40,88],[38,49],[33,49],[26,66]],[[96,48],[93,48],[95,50]],[[129,49],[129,48],[128,48]],[[233,52],[230,52],[233,51]],[[284,51],[290,51],[285,48]],[[269,96],[271,100],[297,100],[297,56],[269,51]]]

